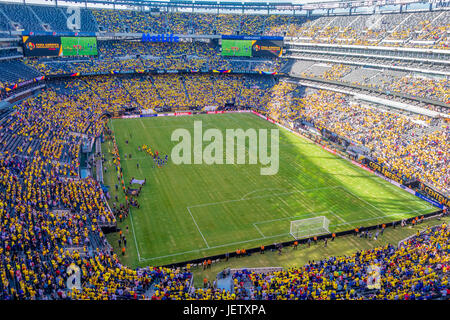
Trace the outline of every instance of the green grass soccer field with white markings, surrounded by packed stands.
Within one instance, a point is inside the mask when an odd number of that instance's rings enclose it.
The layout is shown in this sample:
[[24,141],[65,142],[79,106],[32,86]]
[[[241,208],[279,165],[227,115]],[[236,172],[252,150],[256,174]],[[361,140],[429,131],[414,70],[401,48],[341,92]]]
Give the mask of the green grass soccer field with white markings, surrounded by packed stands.
[[[170,161],[172,132],[184,128],[193,135],[194,121],[203,130],[278,128],[253,114],[114,119],[114,131],[126,184],[131,177],[147,179],[138,197],[140,208],[119,224],[127,237],[123,262],[130,266],[163,265],[237,248],[259,247],[292,240],[290,222],[325,216],[329,231],[343,231],[432,212],[427,202],[334,156],[291,132],[279,131],[279,171],[260,175],[260,164],[207,165]],[[125,141],[128,140],[128,144]],[[146,144],[169,163],[155,168]],[[204,142],[203,147],[209,142]],[[269,144],[270,146],[270,144]],[[248,148],[248,142],[246,148]],[[111,204],[116,193],[111,142],[103,145]],[[226,152],[226,151],[224,151]],[[269,151],[270,152],[270,151]],[[132,158],[124,159],[124,154]],[[139,168],[137,167],[139,163]],[[108,235],[119,252],[117,234]]]

